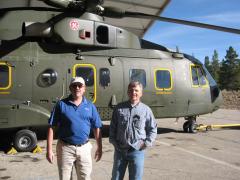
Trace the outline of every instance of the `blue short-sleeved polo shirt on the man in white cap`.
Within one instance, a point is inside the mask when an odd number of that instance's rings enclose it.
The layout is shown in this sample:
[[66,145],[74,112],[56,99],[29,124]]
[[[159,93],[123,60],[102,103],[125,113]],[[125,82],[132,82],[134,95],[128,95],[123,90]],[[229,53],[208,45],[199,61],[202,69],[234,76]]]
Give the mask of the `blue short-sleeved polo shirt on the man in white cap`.
[[85,97],[79,106],[71,102],[71,96],[59,101],[48,123],[50,126],[57,126],[59,139],[70,144],[86,142],[91,128],[102,127],[95,105]]

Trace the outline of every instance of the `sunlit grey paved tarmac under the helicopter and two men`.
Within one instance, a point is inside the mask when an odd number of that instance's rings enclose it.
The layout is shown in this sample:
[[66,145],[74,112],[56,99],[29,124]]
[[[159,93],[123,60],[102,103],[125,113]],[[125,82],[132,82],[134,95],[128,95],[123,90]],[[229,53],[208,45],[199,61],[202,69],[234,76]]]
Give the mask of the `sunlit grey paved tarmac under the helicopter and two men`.
[[[143,180],[240,179],[240,127],[188,134],[182,131],[183,119],[178,122],[175,119],[159,119],[157,122],[158,136],[155,145],[147,150]],[[198,117],[197,122],[240,124],[240,111],[220,109]],[[109,122],[104,124],[104,154],[100,162],[93,164],[92,180],[111,179],[113,147],[106,133]],[[94,145],[94,139],[91,142]],[[39,145],[43,149],[40,154],[6,155],[0,151],[0,179],[57,180],[56,161],[52,165],[45,159],[46,141],[39,141]]]

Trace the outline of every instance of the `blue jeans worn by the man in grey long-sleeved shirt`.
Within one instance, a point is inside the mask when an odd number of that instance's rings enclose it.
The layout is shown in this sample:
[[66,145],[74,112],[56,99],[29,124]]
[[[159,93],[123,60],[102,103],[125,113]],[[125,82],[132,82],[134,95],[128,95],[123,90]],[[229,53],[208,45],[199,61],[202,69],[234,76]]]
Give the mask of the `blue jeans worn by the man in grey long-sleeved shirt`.
[[123,180],[128,166],[129,180],[141,180],[144,169],[144,150],[121,152],[115,149],[112,180]]

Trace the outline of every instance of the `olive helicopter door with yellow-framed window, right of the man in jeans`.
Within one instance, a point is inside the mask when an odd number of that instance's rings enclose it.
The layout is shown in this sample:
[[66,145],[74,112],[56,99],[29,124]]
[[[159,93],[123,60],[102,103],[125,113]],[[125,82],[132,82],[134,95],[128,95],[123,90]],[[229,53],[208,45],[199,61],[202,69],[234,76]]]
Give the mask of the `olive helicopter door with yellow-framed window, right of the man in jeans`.
[[172,117],[175,114],[175,81],[173,64],[169,60],[152,60],[151,69],[151,106],[156,117]]

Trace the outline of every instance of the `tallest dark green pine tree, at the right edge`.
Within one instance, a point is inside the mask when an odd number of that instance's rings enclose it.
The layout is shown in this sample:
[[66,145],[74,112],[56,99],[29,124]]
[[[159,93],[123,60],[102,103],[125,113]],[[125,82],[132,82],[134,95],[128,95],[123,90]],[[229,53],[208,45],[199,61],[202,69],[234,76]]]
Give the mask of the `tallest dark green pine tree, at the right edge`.
[[219,83],[221,89],[240,89],[240,59],[237,59],[237,57],[238,54],[230,46],[220,67]]

